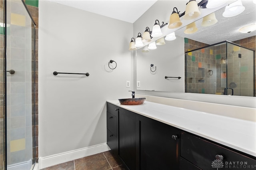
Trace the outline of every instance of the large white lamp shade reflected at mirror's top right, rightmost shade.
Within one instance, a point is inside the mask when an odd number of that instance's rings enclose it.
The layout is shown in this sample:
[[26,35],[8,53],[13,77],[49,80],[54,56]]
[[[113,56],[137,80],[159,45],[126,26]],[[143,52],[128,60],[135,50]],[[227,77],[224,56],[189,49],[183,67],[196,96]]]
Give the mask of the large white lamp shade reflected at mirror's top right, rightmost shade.
[[223,12],[222,16],[224,17],[232,17],[238,14],[241,14],[244,11],[245,7],[242,4],[241,0],[235,1],[232,4],[228,4],[226,6],[225,11]]

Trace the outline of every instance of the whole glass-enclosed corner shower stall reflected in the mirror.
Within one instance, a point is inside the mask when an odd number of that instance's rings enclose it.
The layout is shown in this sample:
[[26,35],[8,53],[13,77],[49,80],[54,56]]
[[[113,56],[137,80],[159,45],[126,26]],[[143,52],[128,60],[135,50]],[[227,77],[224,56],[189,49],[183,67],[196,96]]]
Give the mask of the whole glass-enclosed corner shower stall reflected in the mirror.
[[187,93],[255,96],[255,51],[220,42],[185,53]]

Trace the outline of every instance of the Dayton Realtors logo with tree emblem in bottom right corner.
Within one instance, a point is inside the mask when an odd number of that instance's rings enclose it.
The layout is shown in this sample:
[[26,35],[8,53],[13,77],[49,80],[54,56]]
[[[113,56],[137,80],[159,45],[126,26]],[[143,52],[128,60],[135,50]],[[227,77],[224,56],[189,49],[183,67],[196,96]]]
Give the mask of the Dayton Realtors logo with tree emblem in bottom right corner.
[[222,162],[222,160],[216,159],[212,161],[212,168],[230,168],[230,169],[256,169],[256,165],[248,165],[248,162],[243,161],[229,161]]

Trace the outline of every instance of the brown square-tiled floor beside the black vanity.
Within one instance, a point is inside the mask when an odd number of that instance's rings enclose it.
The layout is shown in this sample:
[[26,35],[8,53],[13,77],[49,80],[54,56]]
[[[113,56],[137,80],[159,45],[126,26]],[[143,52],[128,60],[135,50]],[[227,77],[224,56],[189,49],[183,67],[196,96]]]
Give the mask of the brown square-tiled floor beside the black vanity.
[[42,170],[126,170],[118,157],[110,151],[86,156]]

